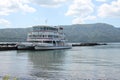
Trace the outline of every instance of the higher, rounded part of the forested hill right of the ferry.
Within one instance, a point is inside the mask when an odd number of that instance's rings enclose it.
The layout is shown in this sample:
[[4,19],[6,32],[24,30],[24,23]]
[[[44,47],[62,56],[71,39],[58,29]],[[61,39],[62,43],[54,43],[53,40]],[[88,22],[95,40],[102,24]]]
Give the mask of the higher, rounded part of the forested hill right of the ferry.
[[69,25],[64,30],[73,42],[120,42],[120,28],[105,23]]

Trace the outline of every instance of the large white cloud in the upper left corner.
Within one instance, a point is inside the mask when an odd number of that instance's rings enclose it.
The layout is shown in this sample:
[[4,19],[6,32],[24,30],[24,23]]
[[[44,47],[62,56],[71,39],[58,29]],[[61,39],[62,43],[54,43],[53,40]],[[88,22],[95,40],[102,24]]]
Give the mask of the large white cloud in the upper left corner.
[[9,15],[13,12],[35,12],[33,7],[28,5],[28,0],[0,0],[0,16]]

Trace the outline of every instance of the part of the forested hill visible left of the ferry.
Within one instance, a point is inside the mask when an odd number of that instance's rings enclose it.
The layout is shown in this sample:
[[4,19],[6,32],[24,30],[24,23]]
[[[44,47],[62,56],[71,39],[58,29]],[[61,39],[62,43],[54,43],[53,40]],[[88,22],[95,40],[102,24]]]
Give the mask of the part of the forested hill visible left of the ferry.
[[31,31],[31,28],[0,29],[0,42],[26,41],[29,31]]

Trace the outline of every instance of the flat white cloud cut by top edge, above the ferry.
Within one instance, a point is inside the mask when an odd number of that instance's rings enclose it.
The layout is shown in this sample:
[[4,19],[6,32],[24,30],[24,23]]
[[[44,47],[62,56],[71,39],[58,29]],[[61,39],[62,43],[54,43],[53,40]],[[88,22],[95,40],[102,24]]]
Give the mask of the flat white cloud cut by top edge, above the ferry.
[[31,0],[31,2],[36,3],[43,7],[58,7],[64,4],[67,0]]

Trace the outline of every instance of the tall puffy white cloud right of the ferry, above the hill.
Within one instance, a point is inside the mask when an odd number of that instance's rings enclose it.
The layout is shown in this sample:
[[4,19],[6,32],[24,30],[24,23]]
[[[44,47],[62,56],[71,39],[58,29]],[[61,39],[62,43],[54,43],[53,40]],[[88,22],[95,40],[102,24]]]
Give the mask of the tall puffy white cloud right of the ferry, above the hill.
[[[90,16],[93,12],[94,4],[91,0],[74,0],[73,4],[69,6],[69,9],[65,15],[73,16],[74,20],[72,22],[74,24],[83,23],[85,20],[90,19]],[[93,16],[91,17],[93,19]]]

